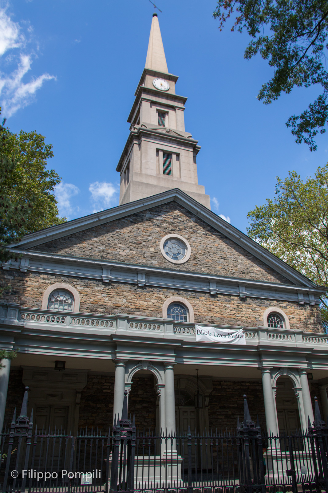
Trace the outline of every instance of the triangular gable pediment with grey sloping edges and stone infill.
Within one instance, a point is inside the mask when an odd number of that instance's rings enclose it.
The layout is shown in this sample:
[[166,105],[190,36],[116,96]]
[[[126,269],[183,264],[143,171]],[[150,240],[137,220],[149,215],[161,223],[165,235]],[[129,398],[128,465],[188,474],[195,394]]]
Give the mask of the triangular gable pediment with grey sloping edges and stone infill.
[[[151,209],[153,211],[150,211]],[[180,217],[177,215],[175,219],[176,226],[173,226],[172,221],[167,222],[166,217],[166,229],[164,228],[162,231],[164,215],[172,214],[172,210],[176,209],[177,214],[180,214]],[[146,219],[148,221],[147,227],[145,226]],[[158,225],[154,224],[156,221]],[[144,230],[138,229],[135,226],[137,223],[142,224]],[[193,226],[195,227],[193,228]],[[146,229],[149,230],[149,227],[153,227],[154,232],[146,231]],[[170,231],[168,231],[168,227]],[[178,227],[178,231],[173,231]],[[122,231],[120,239],[116,234],[118,230]],[[158,230],[158,234],[155,230]],[[172,264],[165,262],[165,259],[163,259],[163,265],[154,260],[155,255],[152,255],[151,248],[158,241],[156,235],[160,237],[165,231],[166,234],[173,232],[187,237],[195,252],[194,261],[188,261],[187,264],[181,266],[172,266]],[[106,235],[108,235],[107,238]],[[140,235],[139,238],[138,235]],[[95,244],[95,238],[98,237],[101,237],[105,243],[107,242],[107,246],[104,243],[105,246],[100,246],[98,249],[99,242],[98,245]],[[124,248],[131,251],[136,242],[139,241],[142,245],[144,238],[151,238],[151,240],[146,240],[147,246],[145,248],[149,249],[147,256],[143,259],[138,255],[134,258],[133,256],[124,256]],[[111,248],[108,247],[110,243],[112,243]],[[154,245],[149,246],[151,243]],[[82,244],[83,248],[79,246]],[[120,257],[111,253],[111,251],[118,250],[118,244],[121,245],[119,249],[122,250]],[[127,261],[131,264],[150,265],[166,269],[174,267],[184,272],[189,270],[190,272],[202,272],[209,275],[258,279],[279,284],[296,284],[309,288],[315,286],[295,269],[179,189],[169,190],[146,199],[96,212],[31,233],[26,235],[18,245],[12,245],[12,248],[74,257],[102,258],[108,261]],[[199,248],[199,252],[202,252],[202,255],[196,254],[197,248]],[[107,256],[104,256],[102,249],[108,252]],[[155,250],[155,248],[153,249]],[[84,253],[81,254],[81,252]],[[99,255],[101,256],[99,257]],[[157,257],[157,259],[159,258],[161,257]]]

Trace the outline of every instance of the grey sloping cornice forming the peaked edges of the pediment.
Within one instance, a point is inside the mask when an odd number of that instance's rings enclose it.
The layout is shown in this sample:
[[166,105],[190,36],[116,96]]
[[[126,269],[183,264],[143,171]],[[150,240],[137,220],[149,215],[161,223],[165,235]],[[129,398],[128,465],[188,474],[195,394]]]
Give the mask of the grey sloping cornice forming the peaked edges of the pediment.
[[[314,289],[318,293],[324,293],[326,291],[327,288],[315,285],[305,276],[293,269],[293,267],[289,266],[278,257],[270,253],[263,246],[254,242],[254,240],[239,231],[232,224],[229,224],[224,219],[221,219],[221,217],[191,198],[186,193],[179,190],[179,188],[174,188],[157,195],[146,197],[145,199],[122,204],[118,207],[107,209],[106,211],[96,212],[94,214],[73,219],[72,221],[58,224],[35,233],[30,233],[29,235],[24,236],[18,245],[10,245],[10,247],[12,247],[14,251],[21,251],[23,249],[26,250],[27,248],[32,248],[64,236],[104,224],[105,222],[114,221],[121,217],[125,217],[140,211],[145,211],[153,207],[158,207],[172,201],[177,202],[179,205],[192,212],[195,216],[199,217],[221,234],[225,235],[237,245],[244,248],[246,251],[271,267],[274,271],[282,274],[292,283],[302,287]],[[24,253],[29,254],[27,251]],[[175,273],[177,273],[177,271],[175,271]],[[279,284],[277,285],[279,286]],[[297,286],[295,287],[297,288]]]

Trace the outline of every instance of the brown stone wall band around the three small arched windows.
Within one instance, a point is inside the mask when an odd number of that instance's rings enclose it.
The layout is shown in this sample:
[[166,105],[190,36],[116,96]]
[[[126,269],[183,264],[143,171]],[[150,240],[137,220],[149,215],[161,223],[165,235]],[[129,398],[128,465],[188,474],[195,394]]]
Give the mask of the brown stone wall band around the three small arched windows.
[[257,298],[240,301],[238,296],[211,296],[209,293],[147,286],[140,288],[135,284],[104,283],[69,276],[21,273],[16,270],[2,271],[0,276],[3,283],[11,286],[1,299],[30,308],[41,308],[43,293],[50,284],[66,282],[79,292],[82,313],[127,313],[162,317],[163,303],[171,296],[180,296],[192,305],[196,323],[256,327],[263,325],[263,313],[268,307],[278,307],[286,313],[292,329],[323,331],[318,308],[307,304]]

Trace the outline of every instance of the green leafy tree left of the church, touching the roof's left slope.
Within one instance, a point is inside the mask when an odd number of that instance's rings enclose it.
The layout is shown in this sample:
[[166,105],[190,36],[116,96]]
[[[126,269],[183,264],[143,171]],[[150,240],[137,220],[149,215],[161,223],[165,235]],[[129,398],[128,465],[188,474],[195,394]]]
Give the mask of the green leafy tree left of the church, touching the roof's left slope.
[[[4,120],[5,121],[5,120]],[[5,246],[66,218],[58,215],[54,188],[60,176],[47,170],[52,145],[36,132],[14,134],[0,125],[0,259],[10,258]]]

